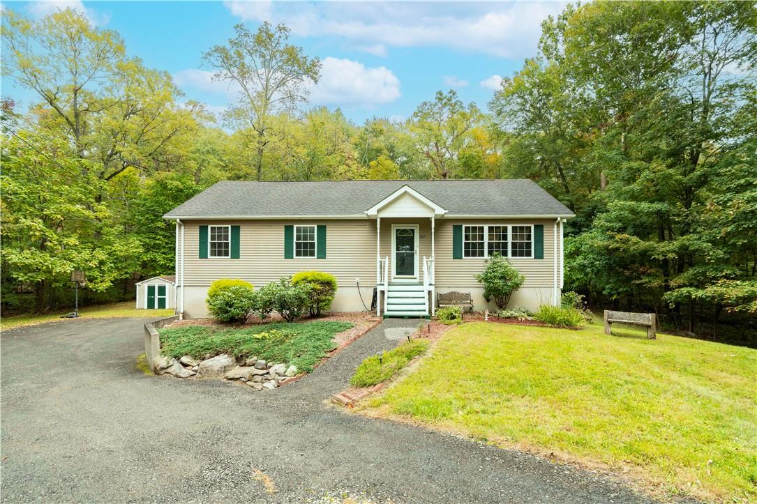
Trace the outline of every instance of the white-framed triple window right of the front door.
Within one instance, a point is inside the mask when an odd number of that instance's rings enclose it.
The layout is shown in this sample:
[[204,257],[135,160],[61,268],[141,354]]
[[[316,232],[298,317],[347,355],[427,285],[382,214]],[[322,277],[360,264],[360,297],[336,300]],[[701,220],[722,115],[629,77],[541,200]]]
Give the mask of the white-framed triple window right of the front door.
[[463,257],[534,257],[534,226],[463,226]]

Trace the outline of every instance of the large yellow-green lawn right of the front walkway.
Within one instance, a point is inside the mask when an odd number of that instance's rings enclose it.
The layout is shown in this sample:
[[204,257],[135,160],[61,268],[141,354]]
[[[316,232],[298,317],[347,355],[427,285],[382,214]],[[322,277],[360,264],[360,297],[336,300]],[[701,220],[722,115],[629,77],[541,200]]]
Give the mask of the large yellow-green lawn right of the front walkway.
[[658,495],[757,500],[757,350],[613,333],[465,324],[366,409],[624,472]]

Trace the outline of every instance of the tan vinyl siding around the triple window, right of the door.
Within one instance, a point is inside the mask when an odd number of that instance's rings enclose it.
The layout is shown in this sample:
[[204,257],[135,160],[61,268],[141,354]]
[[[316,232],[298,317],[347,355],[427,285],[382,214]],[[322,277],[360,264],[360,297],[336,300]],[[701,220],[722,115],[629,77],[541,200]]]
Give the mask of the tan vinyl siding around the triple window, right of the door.
[[475,220],[437,219],[436,221],[436,285],[459,288],[480,287],[473,275],[484,269],[484,259],[452,258],[452,226],[543,224],[544,259],[510,259],[512,266],[525,276],[524,288],[552,287],[554,271],[554,221],[553,220]]

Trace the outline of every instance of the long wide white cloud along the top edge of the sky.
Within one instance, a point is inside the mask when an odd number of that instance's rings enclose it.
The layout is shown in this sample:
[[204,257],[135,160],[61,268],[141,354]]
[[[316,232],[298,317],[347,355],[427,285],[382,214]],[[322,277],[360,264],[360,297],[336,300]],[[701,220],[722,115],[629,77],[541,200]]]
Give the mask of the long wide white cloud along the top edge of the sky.
[[297,36],[337,36],[360,45],[444,46],[522,58],[534,54],[540,23],[562,2],[280,2],[231,0],[242,20],[285,23]]

